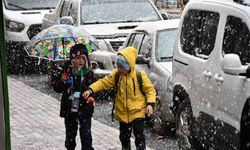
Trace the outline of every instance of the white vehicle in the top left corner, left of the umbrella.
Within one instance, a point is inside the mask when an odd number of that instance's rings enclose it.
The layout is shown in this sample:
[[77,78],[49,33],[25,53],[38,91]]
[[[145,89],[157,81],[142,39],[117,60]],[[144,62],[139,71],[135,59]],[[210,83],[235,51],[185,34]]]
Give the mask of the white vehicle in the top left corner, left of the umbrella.
[[23,47],[41,31],[45,13],[55,8],[59,0],[3,0],[5,40],[8,68],[21,71],[26,64],[27,53]]

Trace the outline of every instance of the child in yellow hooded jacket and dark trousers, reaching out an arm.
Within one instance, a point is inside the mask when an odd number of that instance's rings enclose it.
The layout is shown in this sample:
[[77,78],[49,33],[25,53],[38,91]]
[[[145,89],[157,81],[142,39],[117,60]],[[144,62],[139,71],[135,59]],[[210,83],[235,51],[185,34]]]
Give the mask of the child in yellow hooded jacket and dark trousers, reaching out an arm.
[[117,55],[117,69],[89,86],[83,93],[90,94],[115,86],[115,76],[119,73],[119,82],[115,96],[114,118],[120,123],[120,141],[123,150],[130,150],[130,137],[133,130],[137,150],[145,150],[144,120],[145,114],[153,113],[156,92],[147,74],[141,71],[142,91],[139,88],[135,63],[137,52],[134,47],[127,47]]

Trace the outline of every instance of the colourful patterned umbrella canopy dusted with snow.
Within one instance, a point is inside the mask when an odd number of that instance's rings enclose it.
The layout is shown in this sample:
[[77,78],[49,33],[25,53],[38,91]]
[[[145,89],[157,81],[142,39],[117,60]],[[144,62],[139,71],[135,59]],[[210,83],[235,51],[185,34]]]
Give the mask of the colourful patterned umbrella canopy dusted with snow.
[[70,48],[82,43],[91,53],[98,49],[96,39],[85,30],[71,25],[54,25],[34,36],[25,47],[28,55],[48,60],[69,58]]

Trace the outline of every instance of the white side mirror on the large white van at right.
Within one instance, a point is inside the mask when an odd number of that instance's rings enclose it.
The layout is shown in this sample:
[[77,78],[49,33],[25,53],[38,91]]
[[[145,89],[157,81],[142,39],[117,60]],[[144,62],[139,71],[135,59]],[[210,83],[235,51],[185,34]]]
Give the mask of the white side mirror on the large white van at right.
[[230,75],[246,75],[247,66],[243,66],[236,54],[226,54],[222,60],[222,70]]

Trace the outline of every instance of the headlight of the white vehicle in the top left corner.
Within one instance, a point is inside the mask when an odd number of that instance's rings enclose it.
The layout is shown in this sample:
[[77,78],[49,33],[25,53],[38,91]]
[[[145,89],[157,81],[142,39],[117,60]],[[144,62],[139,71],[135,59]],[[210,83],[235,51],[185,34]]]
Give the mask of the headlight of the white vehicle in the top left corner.
[[25,26],[23,23],[5,19],[5,27],[7,31],[21,32]]

